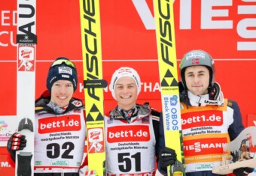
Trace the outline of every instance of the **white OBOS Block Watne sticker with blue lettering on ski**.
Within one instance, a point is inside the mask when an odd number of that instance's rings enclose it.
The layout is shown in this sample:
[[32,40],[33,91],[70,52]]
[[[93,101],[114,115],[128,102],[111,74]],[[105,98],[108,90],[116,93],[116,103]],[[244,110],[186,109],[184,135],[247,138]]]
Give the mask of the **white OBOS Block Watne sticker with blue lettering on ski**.
[[166,130],[181,130],[180,110],[177,95],[165,95],[164,102],[164,115],[166,121]]

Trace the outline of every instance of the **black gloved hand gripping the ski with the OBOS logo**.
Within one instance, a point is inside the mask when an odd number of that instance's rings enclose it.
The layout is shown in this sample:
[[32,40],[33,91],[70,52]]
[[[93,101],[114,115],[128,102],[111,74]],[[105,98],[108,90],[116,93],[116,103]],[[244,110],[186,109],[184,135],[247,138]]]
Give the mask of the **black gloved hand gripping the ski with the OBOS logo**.
[[163,148],[159,154],[159,161],[161,168],[171,166],[177,160],[177,154],[172,148]]

